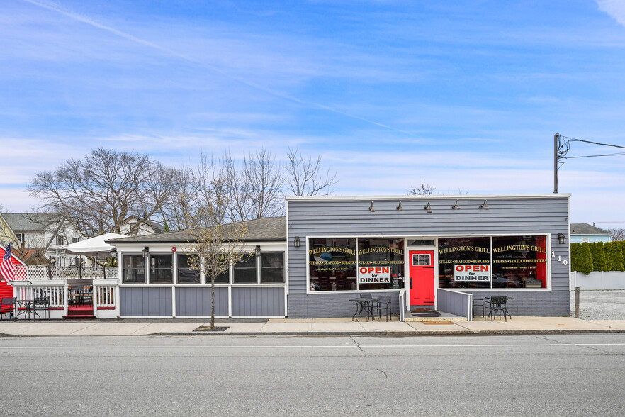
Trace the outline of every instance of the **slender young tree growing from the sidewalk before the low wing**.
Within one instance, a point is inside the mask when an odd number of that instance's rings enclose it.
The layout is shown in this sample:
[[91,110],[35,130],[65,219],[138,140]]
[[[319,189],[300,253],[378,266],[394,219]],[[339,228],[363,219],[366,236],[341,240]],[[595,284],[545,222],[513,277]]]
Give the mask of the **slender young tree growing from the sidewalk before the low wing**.
[[210,328],[215,328],[215,279],[244,257],[242,240],[247,235],[245,223],[223,224],[228,210],[230,187],[223,179],[213,179],[205,188],[205,201],[186,213],[191,239],[187,242],[191,269],[203,271],[210,279]]

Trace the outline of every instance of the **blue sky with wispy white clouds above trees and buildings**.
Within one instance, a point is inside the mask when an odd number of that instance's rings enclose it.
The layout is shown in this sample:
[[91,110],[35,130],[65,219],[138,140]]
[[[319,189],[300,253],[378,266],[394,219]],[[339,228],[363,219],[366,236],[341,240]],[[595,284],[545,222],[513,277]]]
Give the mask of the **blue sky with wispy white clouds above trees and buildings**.
[[[551,193],[554,133],[625,145],[624,52],[625,0],[4,0],[0,202],[98,146],[296,146],[339,195]],[[573,222],[625,227],[624,162],[565,162]]]

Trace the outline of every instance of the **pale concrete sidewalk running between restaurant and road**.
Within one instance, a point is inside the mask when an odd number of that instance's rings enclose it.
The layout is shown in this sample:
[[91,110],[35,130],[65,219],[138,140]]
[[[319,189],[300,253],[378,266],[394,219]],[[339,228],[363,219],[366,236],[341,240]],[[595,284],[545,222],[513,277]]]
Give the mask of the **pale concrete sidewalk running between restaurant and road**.
[[553,333],[625,333],[625,320],[580,320],[571,317],[514,317],[508,321],[458,321],[450,324],[351,321],[351,318],[274,318],[268,321],[215,321],[224,331],[194,331],[210,322],[188,319],[2,321],[0,336],[128,335],[519,335]]

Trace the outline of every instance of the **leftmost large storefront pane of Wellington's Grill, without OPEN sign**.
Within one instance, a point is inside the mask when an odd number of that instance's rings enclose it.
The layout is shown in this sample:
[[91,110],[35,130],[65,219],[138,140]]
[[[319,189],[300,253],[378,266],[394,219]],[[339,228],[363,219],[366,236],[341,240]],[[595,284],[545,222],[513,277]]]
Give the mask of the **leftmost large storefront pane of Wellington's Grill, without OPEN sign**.
[[310,238],[310,291],[356,290],[356,239]]

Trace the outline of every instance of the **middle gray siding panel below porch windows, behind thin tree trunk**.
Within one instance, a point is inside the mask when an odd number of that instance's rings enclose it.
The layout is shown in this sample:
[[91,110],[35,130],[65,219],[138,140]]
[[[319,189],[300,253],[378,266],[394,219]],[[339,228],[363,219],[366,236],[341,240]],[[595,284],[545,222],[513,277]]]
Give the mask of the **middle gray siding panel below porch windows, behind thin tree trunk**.
[[[176,316],[210,316],[210,287],[176,288]],[[215,287],[215,316],[228,316],[228,289]]]

